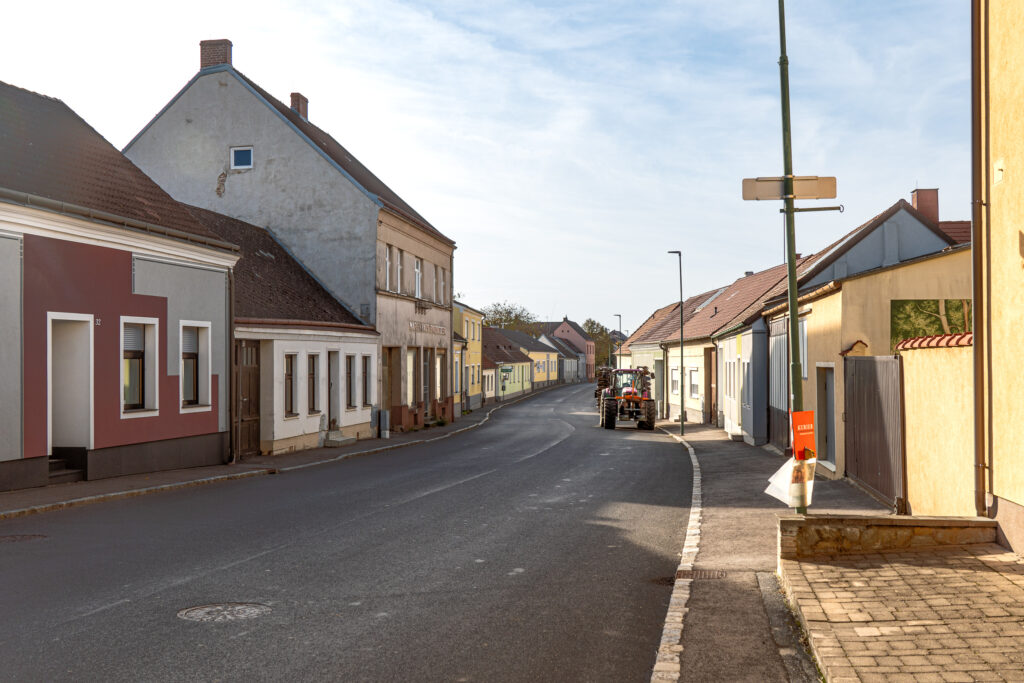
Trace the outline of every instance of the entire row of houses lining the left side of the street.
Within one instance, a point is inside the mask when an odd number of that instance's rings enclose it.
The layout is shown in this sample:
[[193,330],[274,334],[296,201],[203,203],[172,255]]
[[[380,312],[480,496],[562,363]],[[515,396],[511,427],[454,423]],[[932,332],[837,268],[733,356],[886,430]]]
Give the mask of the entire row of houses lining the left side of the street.
[[[454,241],[229,41],[123,152],[58,99],[0,83],[0,490],[338,445],[501,393]],[[524,385],[567,379],[558,343]]]

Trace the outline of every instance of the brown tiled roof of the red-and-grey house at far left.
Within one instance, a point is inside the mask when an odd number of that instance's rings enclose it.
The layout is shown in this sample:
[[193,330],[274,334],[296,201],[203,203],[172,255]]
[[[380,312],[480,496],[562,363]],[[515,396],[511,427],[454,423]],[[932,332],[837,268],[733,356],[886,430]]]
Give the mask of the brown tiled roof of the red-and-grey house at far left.
[[220,238],[184,205],[171,199],[62,101],[2,82],[0,187],[222,246]]

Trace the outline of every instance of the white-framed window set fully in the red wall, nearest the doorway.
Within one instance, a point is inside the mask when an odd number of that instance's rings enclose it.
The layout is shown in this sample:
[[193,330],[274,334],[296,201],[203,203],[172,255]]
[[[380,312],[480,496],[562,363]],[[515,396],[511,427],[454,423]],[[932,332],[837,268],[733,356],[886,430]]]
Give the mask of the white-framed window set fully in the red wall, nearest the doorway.
[[121,316],[121,418],[160,411],[160,318]]

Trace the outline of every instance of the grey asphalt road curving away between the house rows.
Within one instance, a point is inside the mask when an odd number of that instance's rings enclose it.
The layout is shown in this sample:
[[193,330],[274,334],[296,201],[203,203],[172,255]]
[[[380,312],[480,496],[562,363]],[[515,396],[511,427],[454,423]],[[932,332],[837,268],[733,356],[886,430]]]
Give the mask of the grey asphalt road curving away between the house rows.
[[[0,522],[0,679],[646,681],[689,511],[593,385],[433,444]],[[182,609],[255,603],[243,621]]]

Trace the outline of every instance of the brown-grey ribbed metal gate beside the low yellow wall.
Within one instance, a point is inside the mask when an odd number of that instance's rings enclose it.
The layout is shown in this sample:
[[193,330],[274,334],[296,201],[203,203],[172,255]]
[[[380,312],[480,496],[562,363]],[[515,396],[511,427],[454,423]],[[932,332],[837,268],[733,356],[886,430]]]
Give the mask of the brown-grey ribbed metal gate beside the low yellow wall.
[[897,512],[906,506],[903,366],[892,355],[848,356],[846,474]]

